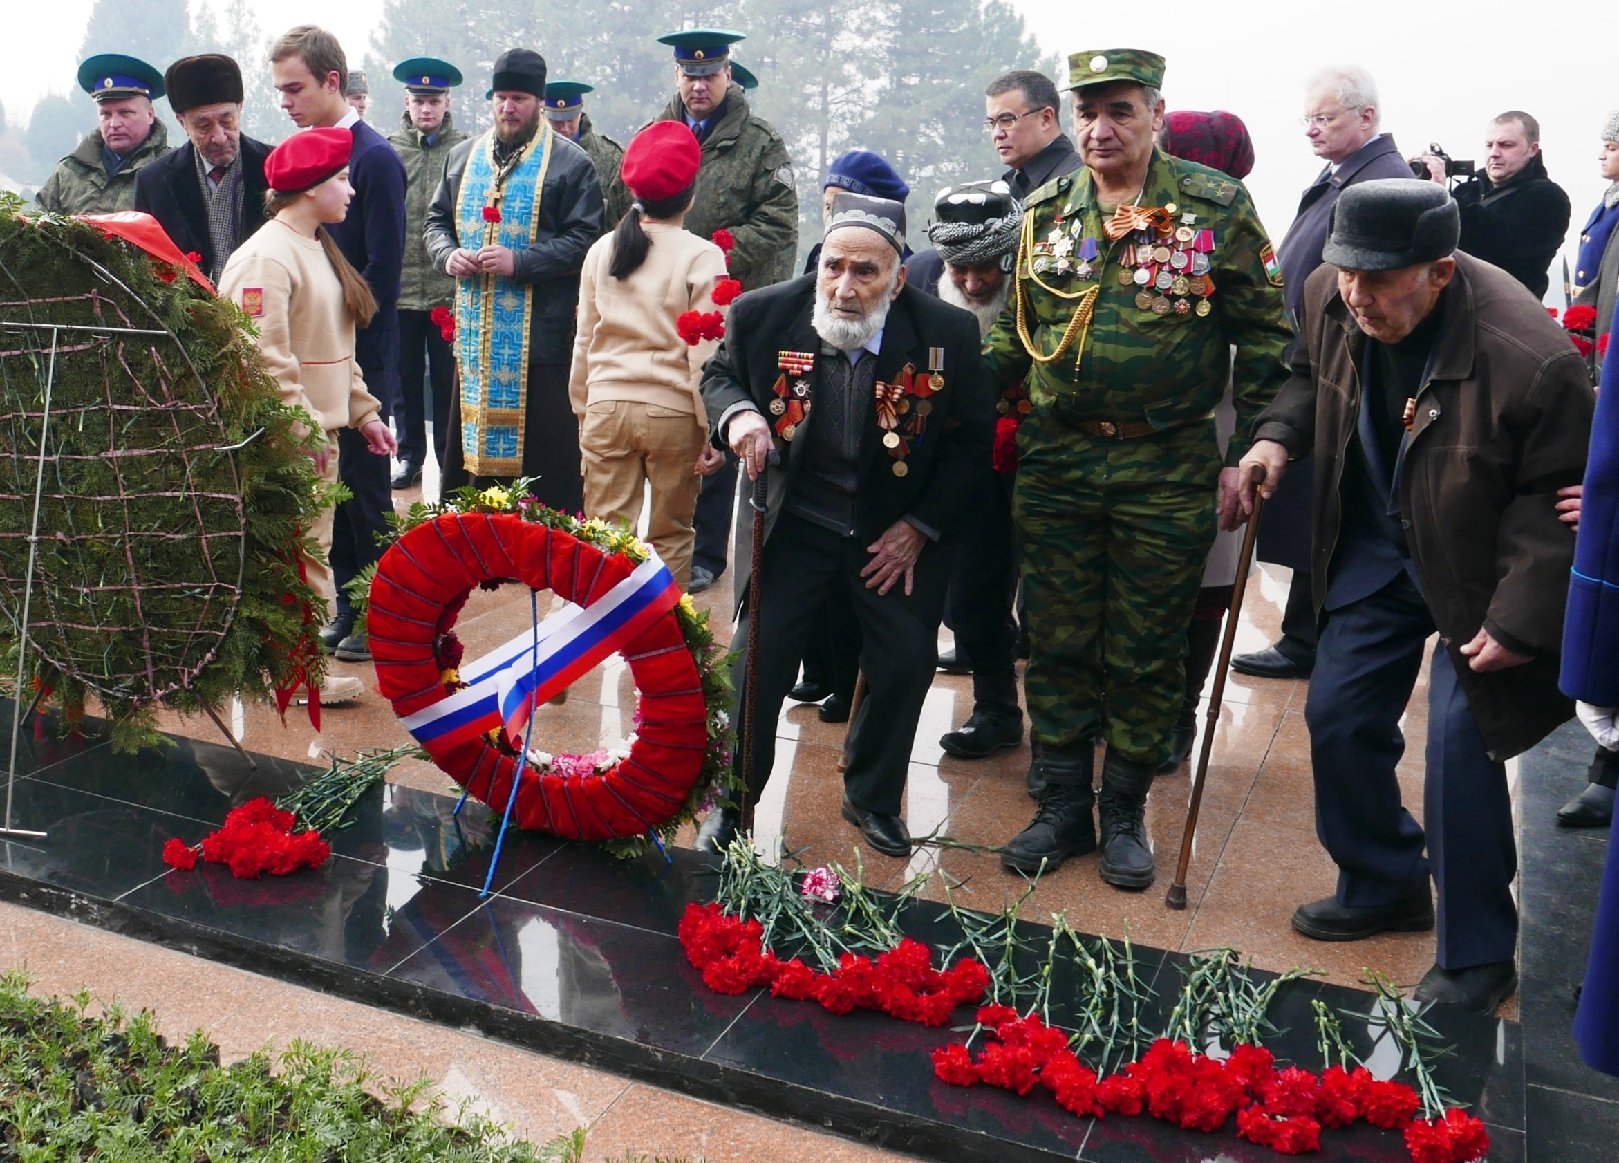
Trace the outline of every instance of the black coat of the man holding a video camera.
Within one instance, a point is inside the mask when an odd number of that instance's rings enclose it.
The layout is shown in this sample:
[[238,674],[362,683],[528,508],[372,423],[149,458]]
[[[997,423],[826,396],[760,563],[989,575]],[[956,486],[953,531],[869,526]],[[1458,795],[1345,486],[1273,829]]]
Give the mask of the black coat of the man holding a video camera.
[[1569,196],[1546,175],[1545,159],[1536,154],[1499,186],[1485,175],[1462,183],[1455,204],[1462,211],[1462,249],[1545,298],[1551,261],[1569,233]]

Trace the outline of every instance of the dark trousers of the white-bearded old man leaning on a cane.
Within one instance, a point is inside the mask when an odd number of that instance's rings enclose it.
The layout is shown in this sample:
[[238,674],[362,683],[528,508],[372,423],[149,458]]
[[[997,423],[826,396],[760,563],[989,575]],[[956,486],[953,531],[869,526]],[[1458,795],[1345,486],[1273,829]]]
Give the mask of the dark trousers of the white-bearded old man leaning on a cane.
[[[759,701],[754,711],[753,784],[764,787],[776,760],[776,721],[787,692],[798,677],[805,641],[821,603],[842,590],[855,607],[865,646],[860,666],[866,672],[866,698],[848,724],[848,769],[843,792],[866,812],[900,815],[905,773],[921,705],[933,685],[939,650],[939,617],[950,580],[950,546],[926,544],[916,559],[910,596],[905,582],[887,594],[866,588],[860,570],[871,560],[866,539],[839,536],[832,530],[782,513],[764,543],[763,599],[759,601]],[[737,727],[753,692],[746,684],[748,620],[733,646]],[[742,774],[737,747],[737,773]]]

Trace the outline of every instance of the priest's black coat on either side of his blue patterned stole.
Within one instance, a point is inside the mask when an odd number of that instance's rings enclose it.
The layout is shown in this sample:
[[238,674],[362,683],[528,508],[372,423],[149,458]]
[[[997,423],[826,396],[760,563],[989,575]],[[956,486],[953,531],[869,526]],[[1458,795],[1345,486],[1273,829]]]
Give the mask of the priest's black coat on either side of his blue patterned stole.
[[[440,271],[461,245],[455,233],[455,206],[461,198],[466,159],[474,149],[486,149],[487,138],[487,133],[468,138],[450,152],[444,181],[427,207],[427,254]],[[591,155],[560,133],[552,134],[550,149],[555,152],[539,191],[534,245],[516,251],[512,262],[512,279],[534,285],[534,311],[528,329],[531,364],[565,364],[573,358],[580,269],[584,266],[584,253],[602,232],[602,188]]]

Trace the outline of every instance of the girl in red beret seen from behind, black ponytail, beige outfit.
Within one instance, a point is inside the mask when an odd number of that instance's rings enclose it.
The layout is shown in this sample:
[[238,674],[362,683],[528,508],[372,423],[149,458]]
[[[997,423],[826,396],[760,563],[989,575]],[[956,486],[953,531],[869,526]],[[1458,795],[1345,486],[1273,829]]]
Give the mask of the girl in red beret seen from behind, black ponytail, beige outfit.
[[725,253],[682,225],[699,162],[682,121],[654,121],[630,143],[620,177],[635,204],[584,256],[568,379],[584,512],[635,526],[651,483],[648,539],[682,588],[698,478],[725,463],[708,442],[698,382],[742,290],[725,275]]

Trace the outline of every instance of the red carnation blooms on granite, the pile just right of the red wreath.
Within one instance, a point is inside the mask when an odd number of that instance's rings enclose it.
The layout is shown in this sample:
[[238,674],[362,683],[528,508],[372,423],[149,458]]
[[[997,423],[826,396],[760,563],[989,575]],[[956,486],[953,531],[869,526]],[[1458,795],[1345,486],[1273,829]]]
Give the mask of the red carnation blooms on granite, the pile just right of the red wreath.
[[763,941],[759,922],[727,917],[719,904],[688,904],[680,918],[680,948],[716,993],[767,985],[777,998],[819,1001],[834,1014],[876,1009],[903,1022],[945,1025],[957,1006],[979,1001],[989,986],[983,964],[965,959],[941,972],[928,946],[910,938],[874,961],[845,952],[831,973],[798,957],[780,961]]

